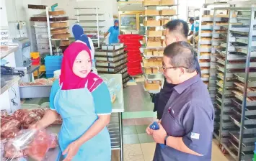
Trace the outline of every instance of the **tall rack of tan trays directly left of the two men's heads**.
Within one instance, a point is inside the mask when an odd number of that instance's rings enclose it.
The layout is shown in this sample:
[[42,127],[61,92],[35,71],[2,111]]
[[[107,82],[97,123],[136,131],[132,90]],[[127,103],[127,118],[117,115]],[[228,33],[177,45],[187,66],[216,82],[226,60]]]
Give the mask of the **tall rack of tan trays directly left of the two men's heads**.
[[[159,1],[160,2],[160,1]],[[151,5],[151,6],[144,6],[145,7],[145,11],[148,9],[156,9],[157,11],[162,11],[163,9],[176,9],[176,14],[171,14],[171,15],[142,15],[141,17],[144,17],[144,21],[148,21],[149,19],[154,19],[154,20],[162,20],[161,25],[144,25],[141,24],[141,26],[145,27],[145,35],[144,35],[144,43],[143,43],[143,47],[141,47],[141,53],[144,56],[144,60],[156,60],[156,59],[161,59],[161,57],[163,57],[163,54],[158,54],[158,55],[148,55],[145,53],[145,50],[154,50],[154,52],[158,52],[158,51],[162,51],[164,50],[164,35],[158,35],[158,36],[149,36],[147,35],[148,31],[151,31],[152,28],[155,28],[154,31],[162,31],[162,33],[164,32],[164,24],[165,21],[164,20],[172,20],[172,19],[177,19],[178,17],[178,6],[179,6],[179,0],[177,0],[175,2],[176,4],[172,4],[172,5]],[[157,37],[157,38],[156,38]],[[154,39],[155,42],[161,42],[161,45],[155,45],[155,46],[149,46],[148,42],[149,40]],[[152,51],[153,53],[153,51]],[[159,81],[161,82],[160,84],[164,84],[164,75],[160,72],[162,69],[162,63],[158,66],[153,65],[150,67],[145,67],[142,64],[142,68],[144,68],[144,77],[145,77],[145,81],[149,81],[149,82],[154,82],[154,81]],[[157,69],[158,72],[152,72],[150,74],[146,74],[145,70],[146,69],[151,69],[154,71],[153,68]],[[151,90],[149,91],[149,93],[158,93],[161,89],[162,86],[160,86],[159,84],[159,89],[158,90]],[[144,87],[145,91],[148,91],[145,87]]]

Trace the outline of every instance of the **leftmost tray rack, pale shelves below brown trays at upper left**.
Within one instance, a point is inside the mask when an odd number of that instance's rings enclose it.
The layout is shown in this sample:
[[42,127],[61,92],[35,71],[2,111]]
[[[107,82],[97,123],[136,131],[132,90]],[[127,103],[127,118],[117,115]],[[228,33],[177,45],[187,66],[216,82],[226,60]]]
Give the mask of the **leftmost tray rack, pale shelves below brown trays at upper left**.
[[[46,6],[29,4],[28,8],[29,9],[46,9]],[[30,21],[33,22],[32,27],[34,27],[35,29],[35,40],[36,40],[37,51],[40,53],[40,55],[44,53],[49,53],[50,46],[49,46],[46,12],[33,15],[33,17],[30,18]]]

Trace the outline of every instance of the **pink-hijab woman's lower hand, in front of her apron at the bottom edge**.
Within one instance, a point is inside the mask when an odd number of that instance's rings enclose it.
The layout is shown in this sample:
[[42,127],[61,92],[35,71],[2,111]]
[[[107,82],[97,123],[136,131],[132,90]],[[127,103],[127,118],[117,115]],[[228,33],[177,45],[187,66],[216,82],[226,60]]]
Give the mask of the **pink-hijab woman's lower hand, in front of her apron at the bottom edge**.
[[70,160],[72,160],[73,157],[76,155],[76,153],[79,151],[80,146],[81,145],[77,141],[74,141],[71,144],[69,144],[69,146],[62,153],[62,155],[68,154],[68,155],[66,155],[66,158],[63,161],[70,161]]

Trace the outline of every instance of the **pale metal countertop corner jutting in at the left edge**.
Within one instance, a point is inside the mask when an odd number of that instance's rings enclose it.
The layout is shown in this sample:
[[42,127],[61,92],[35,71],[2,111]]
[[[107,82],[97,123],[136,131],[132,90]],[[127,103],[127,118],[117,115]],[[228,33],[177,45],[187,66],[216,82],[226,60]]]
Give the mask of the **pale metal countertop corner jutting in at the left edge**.
[[1,75],[1,94],[11,88],[14,83],[17,83],[21,78],[19,75]]

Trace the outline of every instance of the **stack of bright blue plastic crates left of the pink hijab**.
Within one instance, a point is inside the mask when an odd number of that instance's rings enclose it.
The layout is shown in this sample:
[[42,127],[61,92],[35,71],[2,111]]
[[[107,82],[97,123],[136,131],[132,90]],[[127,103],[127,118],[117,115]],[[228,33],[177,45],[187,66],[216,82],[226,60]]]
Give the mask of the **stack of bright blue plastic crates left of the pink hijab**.
[[54,71],[61,69],[63,56],[47,56],[45,57],[46,77],[53,78]]

